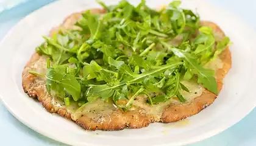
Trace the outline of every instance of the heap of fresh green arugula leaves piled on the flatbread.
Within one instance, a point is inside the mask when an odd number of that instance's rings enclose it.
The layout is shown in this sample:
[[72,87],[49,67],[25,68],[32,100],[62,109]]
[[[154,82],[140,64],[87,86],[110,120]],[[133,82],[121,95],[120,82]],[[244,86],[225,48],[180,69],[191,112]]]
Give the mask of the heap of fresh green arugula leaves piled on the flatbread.
[[[210,27],[200,27],[199,16],[181,9],[180,1],[160,11],[144,0],[137,6],[98,3],[107,13],[88,10],[76,28],[43,36],[44,43],[36,48],[49,57],[47,71],[30,73],[46,78],[49,94],[67,106],[77,102],[82,108],[100,98],[127,110],[142,94],[151,105],[173,97],[186,102],[181,91],[190,91],[181,81],[194,76],[218,94],[214,71],[203,66],[221,54],[229,38],[219,40]],[[180,37],[171,46],[169,41]]]

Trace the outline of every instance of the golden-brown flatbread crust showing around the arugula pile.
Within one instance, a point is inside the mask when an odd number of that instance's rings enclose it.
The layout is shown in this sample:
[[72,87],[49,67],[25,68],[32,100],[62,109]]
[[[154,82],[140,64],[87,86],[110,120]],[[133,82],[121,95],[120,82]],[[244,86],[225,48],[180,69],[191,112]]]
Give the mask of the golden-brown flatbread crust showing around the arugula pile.
[[[93,13],[105,13],[102,9],[93,9]],[[73,13],[69,15],[63,24],[58,27],[54,27],[50,31],[49,35],[58,31],[59,29],[74,29],[74,23],[80,19],[81,13]],[[225,34],[222,30],[214,23],[210,21],[201,21],[201,26],[210,26],[213,28],[215,35],[221,40]],[[229,47],[227,47],[220,55],[219,58],[222,60],[222,68],[216,71],[216,80],[218,83],[218,91],[221,91],[223,85],[223,78],[231,67],[231,53]],[[121,109],[113,109],[108,113],[94,113],[92,116],[82,114],[78,118],[73,117],[73,111],[68,110],[66,106],[54,106],[51,97],[46,91],[45,79],[37,77],[33,74],[29,74],[29,71],[45,72],[46,70],[46,57],[36,52],[32,55],[30,60],[24,67],[22,74],[22,86],[24,92],[30,97],[38,99],[43,107],[51,112],[57,113],[66,119],[73,120],[81,127],[86,130],[123,130],[124,128],[142,128],[147,127],[152,122],[174,122],[185,119],[186,117],[193,116],[199,113],[202,109],[212,104],[216,99],[217,95],[203,89],[201,96],[194,98],[191,102],[176,105],[167,105],[163,109],[162,116],[155,118],[154,116],[145,114],[140,110],[124,112]]]

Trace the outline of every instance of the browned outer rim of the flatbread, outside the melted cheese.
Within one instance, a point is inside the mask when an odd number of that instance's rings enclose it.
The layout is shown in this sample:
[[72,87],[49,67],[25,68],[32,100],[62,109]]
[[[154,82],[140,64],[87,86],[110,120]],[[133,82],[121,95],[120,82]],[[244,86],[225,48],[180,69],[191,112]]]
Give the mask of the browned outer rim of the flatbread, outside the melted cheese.
[[[93,9],[93,13],[104,13],[105,10],[102,9]],[[50,35],[55,31],[59,30],[60,28],[64,27],[68,29],[70,24],[74,24],[77,19],[79,19],[80,13],[73,13],[69,15],[63,24],[58,27],[54,27],[50,31]],[[201,21],[202,26],[210,26],[213,28],[215,33],[221,33],[224,36],[224,32],[214,23],[210,21]],[[22,75],[22,86],[24,92],[26,92],[29,97],[37,98],[39,102],[43,105],[43,107],[51,112],[57,113],[66,119],[71,119],[71,114],[69,114],[66,109],[54,109],[51,103],[51,97],[48,95],[45,89],[40,88],[39,86],[34,86],[35,84],[35,75],[29,74],[27,68],[35,61],[39,60],[41,55],[37,54],[36,52],[32,55],[30,60],[27,62],[26,66],[24,67],[23,75]],[[229,47],[227,47],[220,55],[219,58],[222,60],[223,66],[221,69],[218,69],[216,72],[216,80],[218,82],[218,91],[221,91],[222,88],[222,80],[229,71],[231,67],[231,52]],[[192,102],[187,103],[185,105],[169,105],[162,114],[162,121],[160,122],[175,122],[178,120],[185,119],[186,117],[193,116],[194,114],[199,113],[202,109],[206,108],[208,105],[212,104],[216,99],[216,95],[210,91],[204,90],[201,96],[196,97]],[[71,119],[73,120],[73,119]],[[129,111],[124,113],[121,110],[116,110],[113,112],[111,116],[105,117],[104,122],[94,122],[86,115],[77,119],[76,122],[81,127],[85,128],[86,130],[123,130],[124,128],[142,128],[147,127],[149,123],[155,122],[149,116],[145,114],[140,114],[136,111]]]

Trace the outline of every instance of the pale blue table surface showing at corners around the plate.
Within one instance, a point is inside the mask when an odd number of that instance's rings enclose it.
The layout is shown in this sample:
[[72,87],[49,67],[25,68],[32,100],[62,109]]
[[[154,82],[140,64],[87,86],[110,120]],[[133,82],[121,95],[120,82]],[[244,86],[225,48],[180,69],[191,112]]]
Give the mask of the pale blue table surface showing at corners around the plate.
[[[0,40],[21,18],[30,12],[39,9],[43,5],[49,4],[54,0],[30,0],[10,10],[0,12]],[[191,0],[193,1],[193,0]],[[229,10],[246,21],[252,30],[256,32],[256,1],[254,0],[207,0],[212,4],[218,5]],[[0,0],[1,7],[1,0]],[[243,29],[243,28],[238,28]],[[256,40],[255,40],[256,41]],[[204,141],[191,144],[190,146],[202,145],[256,145],[256,109],[244,117],[243,120],[233,125],[233,127],[223,131],[216,136],[205,139]],[[65,145],[45,137],[34,130],[26,127],[19,122],[12,114],[7,111],[0,101],[0,139],[1,145]]]

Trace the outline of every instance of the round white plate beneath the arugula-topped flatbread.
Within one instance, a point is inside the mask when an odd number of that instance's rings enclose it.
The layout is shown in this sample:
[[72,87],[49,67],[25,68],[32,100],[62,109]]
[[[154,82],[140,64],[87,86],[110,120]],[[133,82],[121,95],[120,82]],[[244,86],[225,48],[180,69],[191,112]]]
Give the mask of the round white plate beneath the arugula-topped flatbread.
[[[117,1],[108,1],[115,4]],[[169,1],[148,1],[151,7],[168,4]],[[138,4],[138,1],[132,1]],[[85,131],[75,123],[56,114],[46,112],[35,100],[24,94],[21,87],[21,72],[34,52],[35,47],[49,30],[62,23],[73,12],[99,7],[94,1],[57,1],[20,21],[0,43],[0,94],[4,105],[28,127],[70,145],[184,145],[201,141],[226,130],[256,105],[255,98],[255,49],[256,39],[246,24],[230,13],[205,1],[183,1],[183,7],[196,9],[201,19],[218,24],[230,36],[233,45],[232,69],[225,78],[224,87],[213,105],[196,116],[190,117],[187,126],[171,127],[154,123],[149,127],[123,131]]]

